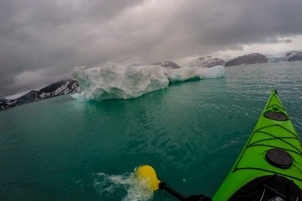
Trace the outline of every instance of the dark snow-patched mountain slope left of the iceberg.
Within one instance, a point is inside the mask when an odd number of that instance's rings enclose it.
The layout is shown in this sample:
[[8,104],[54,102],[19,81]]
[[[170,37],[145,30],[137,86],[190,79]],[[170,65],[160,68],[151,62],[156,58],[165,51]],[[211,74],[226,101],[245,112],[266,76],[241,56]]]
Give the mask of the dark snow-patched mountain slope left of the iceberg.
[[41,88],[40,90],[30,91],[16,99],[2,98],[0,99],[0,111],[79,90],[80,87],[77,80],[62,80]]

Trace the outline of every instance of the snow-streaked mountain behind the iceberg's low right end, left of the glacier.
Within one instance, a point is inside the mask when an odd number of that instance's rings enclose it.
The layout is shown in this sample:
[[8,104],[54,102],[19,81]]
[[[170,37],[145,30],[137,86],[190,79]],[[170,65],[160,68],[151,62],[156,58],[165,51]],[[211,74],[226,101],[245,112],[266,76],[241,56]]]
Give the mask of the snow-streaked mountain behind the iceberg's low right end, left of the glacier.
[[238,66],[238,65],[248,65],[257,63],[267,63],[268,58],[260,53],[246,54],[243,56],[232,57],[227,55],[214,55],[206,57],[198,57],[193,59],[185,66],[189,67],[207,67],[210,68],[215,65],[222,66]]

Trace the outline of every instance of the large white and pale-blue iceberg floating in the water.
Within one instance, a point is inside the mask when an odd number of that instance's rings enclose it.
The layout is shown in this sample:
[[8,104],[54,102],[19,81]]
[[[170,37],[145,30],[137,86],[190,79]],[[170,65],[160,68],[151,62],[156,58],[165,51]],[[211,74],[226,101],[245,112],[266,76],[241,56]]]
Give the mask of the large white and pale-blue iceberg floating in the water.
[[74,67],[72,76],[79,81],[82,93],[71,97],[80,100],[104,100],[135,98],[144,93],[168,87],[169,82],[185,81],[191,78],[224,77],[223,66],[211,68],[167,69],[158,65],[121,65],[106,63],[101,67]]

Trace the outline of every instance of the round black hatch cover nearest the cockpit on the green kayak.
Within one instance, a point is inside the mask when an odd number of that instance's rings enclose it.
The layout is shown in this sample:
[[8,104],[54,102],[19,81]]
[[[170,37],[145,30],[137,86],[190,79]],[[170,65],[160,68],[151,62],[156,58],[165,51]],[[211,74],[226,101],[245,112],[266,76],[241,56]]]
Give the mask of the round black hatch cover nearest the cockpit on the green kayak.
[[271,165],[283,169],[289,168],[292,164],[292,156],[287,151],[279,148],[268,150],[266,159]]

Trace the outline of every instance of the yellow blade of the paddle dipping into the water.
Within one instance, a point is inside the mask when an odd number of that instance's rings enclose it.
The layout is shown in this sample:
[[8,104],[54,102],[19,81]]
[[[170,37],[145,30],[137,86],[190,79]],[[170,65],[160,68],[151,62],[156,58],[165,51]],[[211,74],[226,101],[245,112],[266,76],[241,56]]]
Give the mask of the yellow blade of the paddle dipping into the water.
[[145,179],[149,183],[150,188],[152,188],[154,191],[159,189],[159,183],[161,181],[156,177],[156,173],[153,167],[149,165],[141,165],[135,167],[134,174],[137,178]]

